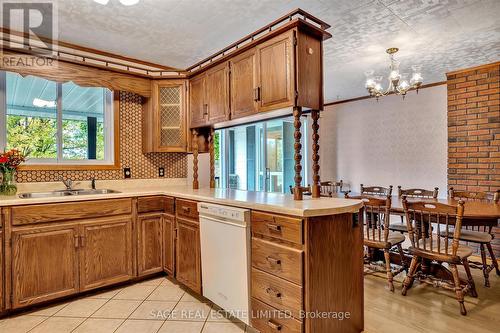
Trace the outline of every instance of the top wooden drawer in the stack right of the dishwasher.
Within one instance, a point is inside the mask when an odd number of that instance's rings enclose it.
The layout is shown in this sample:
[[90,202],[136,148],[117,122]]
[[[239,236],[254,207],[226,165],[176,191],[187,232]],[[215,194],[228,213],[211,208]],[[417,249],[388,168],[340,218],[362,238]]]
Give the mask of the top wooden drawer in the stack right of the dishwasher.
[[252,231],[302,244],[302,220],[252,211]]

